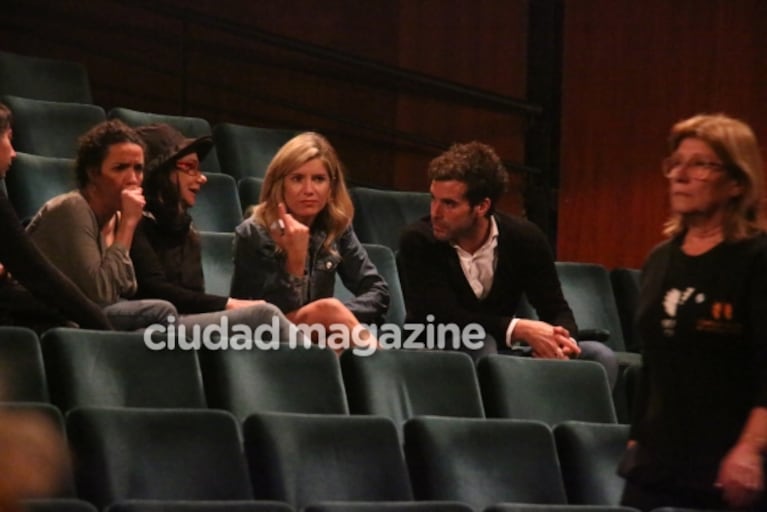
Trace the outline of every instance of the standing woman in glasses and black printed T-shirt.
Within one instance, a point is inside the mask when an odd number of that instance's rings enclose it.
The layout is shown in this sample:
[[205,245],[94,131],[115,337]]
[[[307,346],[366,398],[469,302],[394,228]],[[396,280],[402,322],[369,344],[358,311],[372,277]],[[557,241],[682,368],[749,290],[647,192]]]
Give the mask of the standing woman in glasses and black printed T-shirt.
[[642,269],[643,363],[622,503],[766,510],[767,240],[752,130],[724,115],[675,124],[671,215]]

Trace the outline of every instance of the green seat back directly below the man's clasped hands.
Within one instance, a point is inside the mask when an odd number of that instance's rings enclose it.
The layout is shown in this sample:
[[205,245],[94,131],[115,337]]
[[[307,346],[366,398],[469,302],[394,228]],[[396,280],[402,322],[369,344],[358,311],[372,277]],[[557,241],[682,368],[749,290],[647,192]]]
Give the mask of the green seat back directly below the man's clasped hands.
[[493,354],[477,363],[488,417],[615,423],[607,373],[594,361],[560,361]]

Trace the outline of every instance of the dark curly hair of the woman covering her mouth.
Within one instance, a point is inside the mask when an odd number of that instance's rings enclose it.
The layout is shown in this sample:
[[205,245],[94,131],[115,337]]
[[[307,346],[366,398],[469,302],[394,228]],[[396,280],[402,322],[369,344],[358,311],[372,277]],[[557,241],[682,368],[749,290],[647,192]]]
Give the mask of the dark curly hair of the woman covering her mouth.
[[98,170],[107,156],[110,146],[130,142],[146,151],[146,145],[133,128],[117,119],[103,121],[78,139],[75,159],[77,186],[85,188],[90,181],[89,171]]

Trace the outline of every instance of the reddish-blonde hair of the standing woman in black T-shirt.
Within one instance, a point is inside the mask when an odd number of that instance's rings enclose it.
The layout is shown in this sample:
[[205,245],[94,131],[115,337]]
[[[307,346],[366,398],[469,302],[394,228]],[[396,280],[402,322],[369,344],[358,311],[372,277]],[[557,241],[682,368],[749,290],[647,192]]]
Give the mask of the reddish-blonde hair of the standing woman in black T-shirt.
[[[708,144],[743,189],[742,194],[730,199],[725,206],[722,227],[725,240],[740,240],[761,232],[764,164],[753,130],[743,121],[724,114],[696,115],[671,128],[669,150],[674,152],[689,138]],[[673,237],[686,229],[684,218],[672,214],[664,224],[663,234]]]

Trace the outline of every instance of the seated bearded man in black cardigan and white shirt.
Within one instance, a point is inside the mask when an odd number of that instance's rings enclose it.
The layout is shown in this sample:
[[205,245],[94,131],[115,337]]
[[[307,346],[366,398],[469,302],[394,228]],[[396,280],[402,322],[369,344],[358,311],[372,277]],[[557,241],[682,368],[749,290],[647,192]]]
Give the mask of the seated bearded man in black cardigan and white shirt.
[[[455,144],[428,168],[430,216],[406,227],[398,259],[407,321],[460,327],[488,335],[474,357],[520,344],[534,357],[602,363],[611,384],[617,361],[597,341],[577,343],[578,328],[546,237],[533,223],[496,211],[508,176],[498,155],[479,142]],[[540,320],[516,317],[526,296]]]

